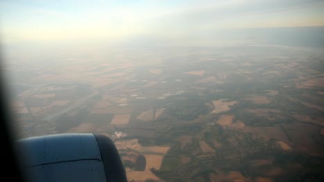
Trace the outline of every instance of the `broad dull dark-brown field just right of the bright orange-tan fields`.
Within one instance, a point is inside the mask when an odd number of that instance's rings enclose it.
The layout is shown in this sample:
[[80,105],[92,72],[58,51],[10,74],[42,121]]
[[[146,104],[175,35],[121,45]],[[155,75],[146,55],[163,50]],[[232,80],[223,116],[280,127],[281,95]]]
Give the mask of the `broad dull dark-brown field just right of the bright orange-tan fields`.
[[278,139],[280,141],[285,141],[289,143],[289,139],[287,138],[284,131],[282,131],[282,128],[277,125],[274,127],[266,126],[266,127],[249,127],[245,126],[243,129],[244,132],[252,132],[257,137],[261,137],[263,139],[269,140],[269,139]]

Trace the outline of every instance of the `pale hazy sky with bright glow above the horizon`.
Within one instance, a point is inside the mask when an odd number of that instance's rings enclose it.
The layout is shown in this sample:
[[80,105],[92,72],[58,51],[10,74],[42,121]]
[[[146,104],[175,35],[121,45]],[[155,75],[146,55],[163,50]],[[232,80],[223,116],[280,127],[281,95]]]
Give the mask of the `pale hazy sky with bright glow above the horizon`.
[[228,28],[324,26],[324,1],[0,1],[1,41],[191,37]]

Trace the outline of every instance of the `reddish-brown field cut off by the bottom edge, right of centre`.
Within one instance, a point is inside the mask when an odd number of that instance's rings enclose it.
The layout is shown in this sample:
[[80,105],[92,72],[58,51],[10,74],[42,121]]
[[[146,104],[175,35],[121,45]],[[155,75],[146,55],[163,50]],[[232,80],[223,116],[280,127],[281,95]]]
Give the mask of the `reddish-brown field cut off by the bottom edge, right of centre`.
[[235,182],[244,182],[248,181],[240,172],[231,171],[231,172],[219,172],[218,174],[210,173],[209,174],[210,181],[218,182],[218,181],[235,181]]

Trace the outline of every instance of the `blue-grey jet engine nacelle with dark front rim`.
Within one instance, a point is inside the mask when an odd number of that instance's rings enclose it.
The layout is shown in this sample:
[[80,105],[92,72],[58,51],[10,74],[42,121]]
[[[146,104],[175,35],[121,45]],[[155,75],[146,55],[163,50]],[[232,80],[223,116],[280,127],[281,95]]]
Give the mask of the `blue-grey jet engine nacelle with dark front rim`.
[[18,143],[30,181],[127,181],[114,142],[103,134],[53,134]]

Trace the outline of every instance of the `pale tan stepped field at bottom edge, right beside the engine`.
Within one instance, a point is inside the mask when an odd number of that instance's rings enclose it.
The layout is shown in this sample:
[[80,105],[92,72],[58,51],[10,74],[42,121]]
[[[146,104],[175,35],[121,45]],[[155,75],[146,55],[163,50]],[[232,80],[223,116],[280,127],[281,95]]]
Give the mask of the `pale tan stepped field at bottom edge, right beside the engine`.
[[161,181],[157,176],[155,176],[150,169],[155,168],[159,170],[163,160],[162,155],[155,154],[145,154],[146,158],[146,168],[145,171],[134,171],[126,168],[127,180],[128,181],[145,181],[145,179],[153,179],[155,181]]

